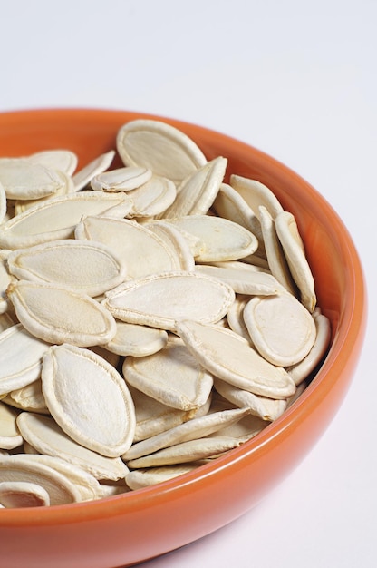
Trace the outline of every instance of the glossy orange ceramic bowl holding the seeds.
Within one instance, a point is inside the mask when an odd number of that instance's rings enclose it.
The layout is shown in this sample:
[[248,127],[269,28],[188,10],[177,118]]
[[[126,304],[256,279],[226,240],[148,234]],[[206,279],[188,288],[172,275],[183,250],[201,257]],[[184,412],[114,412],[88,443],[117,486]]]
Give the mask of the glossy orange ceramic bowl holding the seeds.
[[[125,122],[159,118],[102,110],[0,114],[0,155],[69,148],[79,167],[115,148]],[[295,214],[314,272],[318,305],[330,318],[332,345],[304,394],[275,423],[193,473],[136,492],[83,504],[0,511],[0,563],[6,568],[112,568],[188,544],[257,504],[309,452],[333,419],[362,348],[362,268],[343,222],[306,181],[245,143],[166,120],[196,141],[208,160],[264,182]]]

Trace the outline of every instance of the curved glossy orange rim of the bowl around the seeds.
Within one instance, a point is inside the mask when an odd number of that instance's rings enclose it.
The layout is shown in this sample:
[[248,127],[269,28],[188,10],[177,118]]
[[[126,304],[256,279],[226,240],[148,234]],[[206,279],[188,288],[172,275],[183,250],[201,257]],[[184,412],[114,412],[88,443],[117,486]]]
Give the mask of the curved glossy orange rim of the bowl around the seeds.
[[[352,291],[352,301],[347,302],[344,306],[343,325],[336,336],[336,349],[334,345],[330,348],[324,364],[319,370],[315,380],[305,388],[304,393],[290,406],[285,413],[277,418],[273,423],[259,433],[251,440],[245,442],[241,446],[229,451],[226,455],[218,457],[214,462],[200,466],[193,472],[180,475],[179,478],[170,479],[159,485],[152,485],[137,491],[127,492],[121,495],[113,495],[111,497],[102,498],[96,501],[88,501],[77,504],[53,505],[50,507],[38,507],[32,509],[6,509],[0,514],[0,526],[27,526],[30,524],[63,524],[63,523],[79,523],[82,519],[96,519],[107,516],[117,516],[126,512],[140,511],[140,509],[148,509],[151,503],[161,502],[167,499],[167,496],[181,491],[189,490],[192,485],[207,483],[208,477],[223,475],[228,468],[232,468],[245,458],[252,457],[258,452],[264,451],[272,439],[276,440],[280,437],[288,436],[289,431],[304,419],[308,409],[314,408],[335,386],[336,377],[340,377],[345,367],[349,365],[348,357],[356,350],[360,350],[362,339],[366,327],[366,287],[362,271],[362,265],[355,249],[352,237],[343,224],[333,207],[325,200],[317,190],[314,189],[300,175],[285,166],[282,162],[275,160],[266,152],[256,149],[254,146],[246,142],[239,141],[227,134],[217,132],[169,117],[156,114],[143,113],[137,111],[114,110],[104,108],[67,108],[53,107],[48,109],[25,109],[14,110],[0,113],[0,126],[3,122],[35,121],[41,118],[44,121],[49,117],[59,115],[61,120],[73,119],[74,117],[83,116],[91,119],[102,120],[106,122],[110,115],[114,119],[119,118],[120,121],[128,122],[135,118],[144,118],[150,120],[161,120],[168,122],[173,126],[185,131],[205,133],[218,137],[221,142],[231,143],[239,152],[253,152],[254,157],[266,168],[273,166],[283,172],[287,178],[295,183],[299,183],[304,188],[305,199],[308,197],[311,203],[314,203],[321,211],[322,215],[330,215],[333,220],[333,235],[341,232],[343,240],[337,244],[342,252],[343,260],[349,270],[349,281],[347,286]],[[194,137],[193,134],[193,137]],[[356,364],[356,362],[354,362]],[[178,481],[177,481],[178,479]]]

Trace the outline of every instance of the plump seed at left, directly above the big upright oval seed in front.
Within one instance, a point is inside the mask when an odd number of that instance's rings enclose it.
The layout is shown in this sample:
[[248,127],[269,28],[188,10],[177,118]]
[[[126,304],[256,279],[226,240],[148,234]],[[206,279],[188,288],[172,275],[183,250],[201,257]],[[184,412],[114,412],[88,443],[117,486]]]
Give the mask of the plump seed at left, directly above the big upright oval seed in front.
[[116,333],[111,313],[73,289],[19,280],[7,294],[24,328],[49,343],[90,347],[108,343]]

